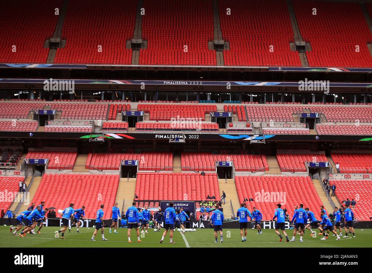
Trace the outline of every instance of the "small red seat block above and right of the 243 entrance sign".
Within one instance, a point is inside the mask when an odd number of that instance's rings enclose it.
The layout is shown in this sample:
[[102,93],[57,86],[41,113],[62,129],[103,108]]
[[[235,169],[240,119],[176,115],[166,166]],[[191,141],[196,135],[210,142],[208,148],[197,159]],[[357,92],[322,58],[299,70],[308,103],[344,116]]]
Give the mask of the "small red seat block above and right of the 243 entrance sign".
[[48,169],[68,169],[72,170],[75,164],[76,152],[49,152],[49,151],[30,151],[27,159],[49,159]]

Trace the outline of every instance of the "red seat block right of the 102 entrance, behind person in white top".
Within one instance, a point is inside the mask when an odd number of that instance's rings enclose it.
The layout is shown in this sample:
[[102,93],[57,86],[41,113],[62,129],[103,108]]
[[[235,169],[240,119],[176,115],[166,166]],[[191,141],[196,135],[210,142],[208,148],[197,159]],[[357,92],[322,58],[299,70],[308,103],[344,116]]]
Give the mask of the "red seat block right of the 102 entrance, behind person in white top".
[[331,157],[339,163],[340,173],[372,173],[371,153],[331,153]]

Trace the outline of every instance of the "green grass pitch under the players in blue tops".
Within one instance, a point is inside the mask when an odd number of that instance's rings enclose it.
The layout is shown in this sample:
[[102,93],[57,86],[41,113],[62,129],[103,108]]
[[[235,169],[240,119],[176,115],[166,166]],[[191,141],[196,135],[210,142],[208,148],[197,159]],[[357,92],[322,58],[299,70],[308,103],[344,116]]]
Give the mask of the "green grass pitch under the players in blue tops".
[[[54,237],[54,231],[58,227],[43,227],[40,234],[27,234],[22,238],[10,233],[9,227],[0,227],[0,247],[371,247],[372,229],[355,230],[356,238],[341,238],[336,241],[335,236],[329,236],[326,241],[321,241],[322,236],[310,237],[307,231],[304,235],[304,242],[299,242],[299,235],[296,235],[296,242],[286,243],[285,240],[279,242],[278,235],[274,230],[263,230],[262,234],[257,235],[257,230],[248,230],[247,242],[241,242],[240,232],[237,229],[224,229],[224,241],[222,244],[214,243],[212,229],[197,229],[196,232],[186,232],[185,238],[179,232],[173,235],[176,244],[169,243],[169,233],[164,242],[159,244],[161,239],[160,232],[149,229],[149,233],[141,237],[142,243],[137,242],[135,230],[132,230],[131,240],[128,243],[126,236],[127,229],[119,228],[118,234],[109,233],[109,228],[105,228],[105,237],[108,241],[101,241],[100,231],[97,233],[96,241],[90,241],[94,228],[80,228],[80,233],[76,228],[72,228],[71,233],[65,233],[65,240]],[[37,230],[37,229],[36,229]],[[113,232],[113,231],[112,231]],[[289,239],[292,239],[293,230],[286,230]],[[350,235],[349,235],[350,236]],[[219,241],[219,236],[218,236]]]

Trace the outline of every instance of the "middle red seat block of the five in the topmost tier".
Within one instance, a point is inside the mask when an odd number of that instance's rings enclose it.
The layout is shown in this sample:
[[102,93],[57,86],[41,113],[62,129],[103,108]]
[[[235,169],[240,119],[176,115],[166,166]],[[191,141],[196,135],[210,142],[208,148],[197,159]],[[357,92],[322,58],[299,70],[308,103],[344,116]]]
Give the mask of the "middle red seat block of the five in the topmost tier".
[[211,1],[144,0],[143,7],[147,49],[140,49],[140,65],[217,64],[215,51],[208,49],[213,40]]

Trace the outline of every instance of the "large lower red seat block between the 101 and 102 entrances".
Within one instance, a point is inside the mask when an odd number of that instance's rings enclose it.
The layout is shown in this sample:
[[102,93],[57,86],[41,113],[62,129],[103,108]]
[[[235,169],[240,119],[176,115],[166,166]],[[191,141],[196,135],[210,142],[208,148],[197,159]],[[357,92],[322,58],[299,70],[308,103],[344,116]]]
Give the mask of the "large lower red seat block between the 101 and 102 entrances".
[[309,207],[314,213],[322,205],[309,176],[235,176],[235,185],[239,202],[253,198],[254,201],[246,201],[247,208],[252,211],[256,207],[263,220],[273,218],[278,203],[282,204],[282,209],[288,209],[291,220],[292,209],[299,204],[304,204],[304,208]]

